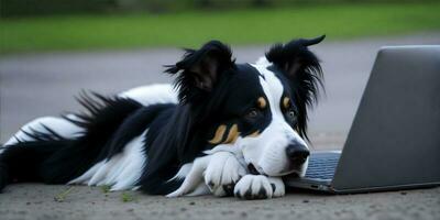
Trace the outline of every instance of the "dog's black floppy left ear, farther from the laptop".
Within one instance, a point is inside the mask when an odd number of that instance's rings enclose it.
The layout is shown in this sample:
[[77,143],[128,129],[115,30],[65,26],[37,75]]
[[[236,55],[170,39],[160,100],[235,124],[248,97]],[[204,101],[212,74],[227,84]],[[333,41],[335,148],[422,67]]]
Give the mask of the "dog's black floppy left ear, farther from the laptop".
[[233,66],[232,52],[219,41],[210,41],[199,50],[185,50],[182,61],[167,65],[168,74],[178,74],[176,87],[180,101],[188,101],[196,95],[209,92],[219,76]]

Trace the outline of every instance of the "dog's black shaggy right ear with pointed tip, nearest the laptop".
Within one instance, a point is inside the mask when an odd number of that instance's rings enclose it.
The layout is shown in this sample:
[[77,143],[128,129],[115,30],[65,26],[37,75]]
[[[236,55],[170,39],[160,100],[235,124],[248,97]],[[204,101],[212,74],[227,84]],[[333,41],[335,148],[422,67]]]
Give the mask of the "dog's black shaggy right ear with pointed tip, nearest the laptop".
[[322,86],[322,70],[318,57],[308,46],[320,43],[326,35],[311,40],[294,40],[287,44],[275,44],[266,53],[268,62],[290,80],[293,95],[298,106],[299,134],[307,139],[307,108],[318,99],[318,87]]

